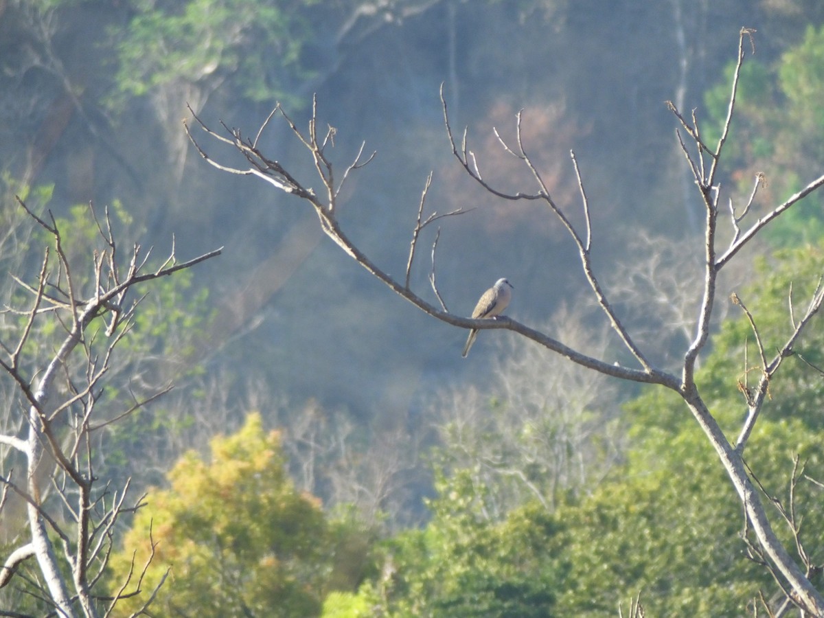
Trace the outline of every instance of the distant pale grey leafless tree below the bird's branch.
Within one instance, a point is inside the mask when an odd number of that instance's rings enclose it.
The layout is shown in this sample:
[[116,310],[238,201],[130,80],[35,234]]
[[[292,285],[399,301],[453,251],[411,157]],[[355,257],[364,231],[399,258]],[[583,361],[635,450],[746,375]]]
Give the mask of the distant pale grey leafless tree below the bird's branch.
[[[545,330],[563,332],[577,349],[608,354],[609,330],[593,332],[580,311],[561,307]],[[554,510],[560,494],[586,492],[622,452],[618,382],[545,358],[527,339],[508,339],[500,349],[489,382],[453,387],[431,412],[442,465],[469,471],[494,521],[527,499]]]

